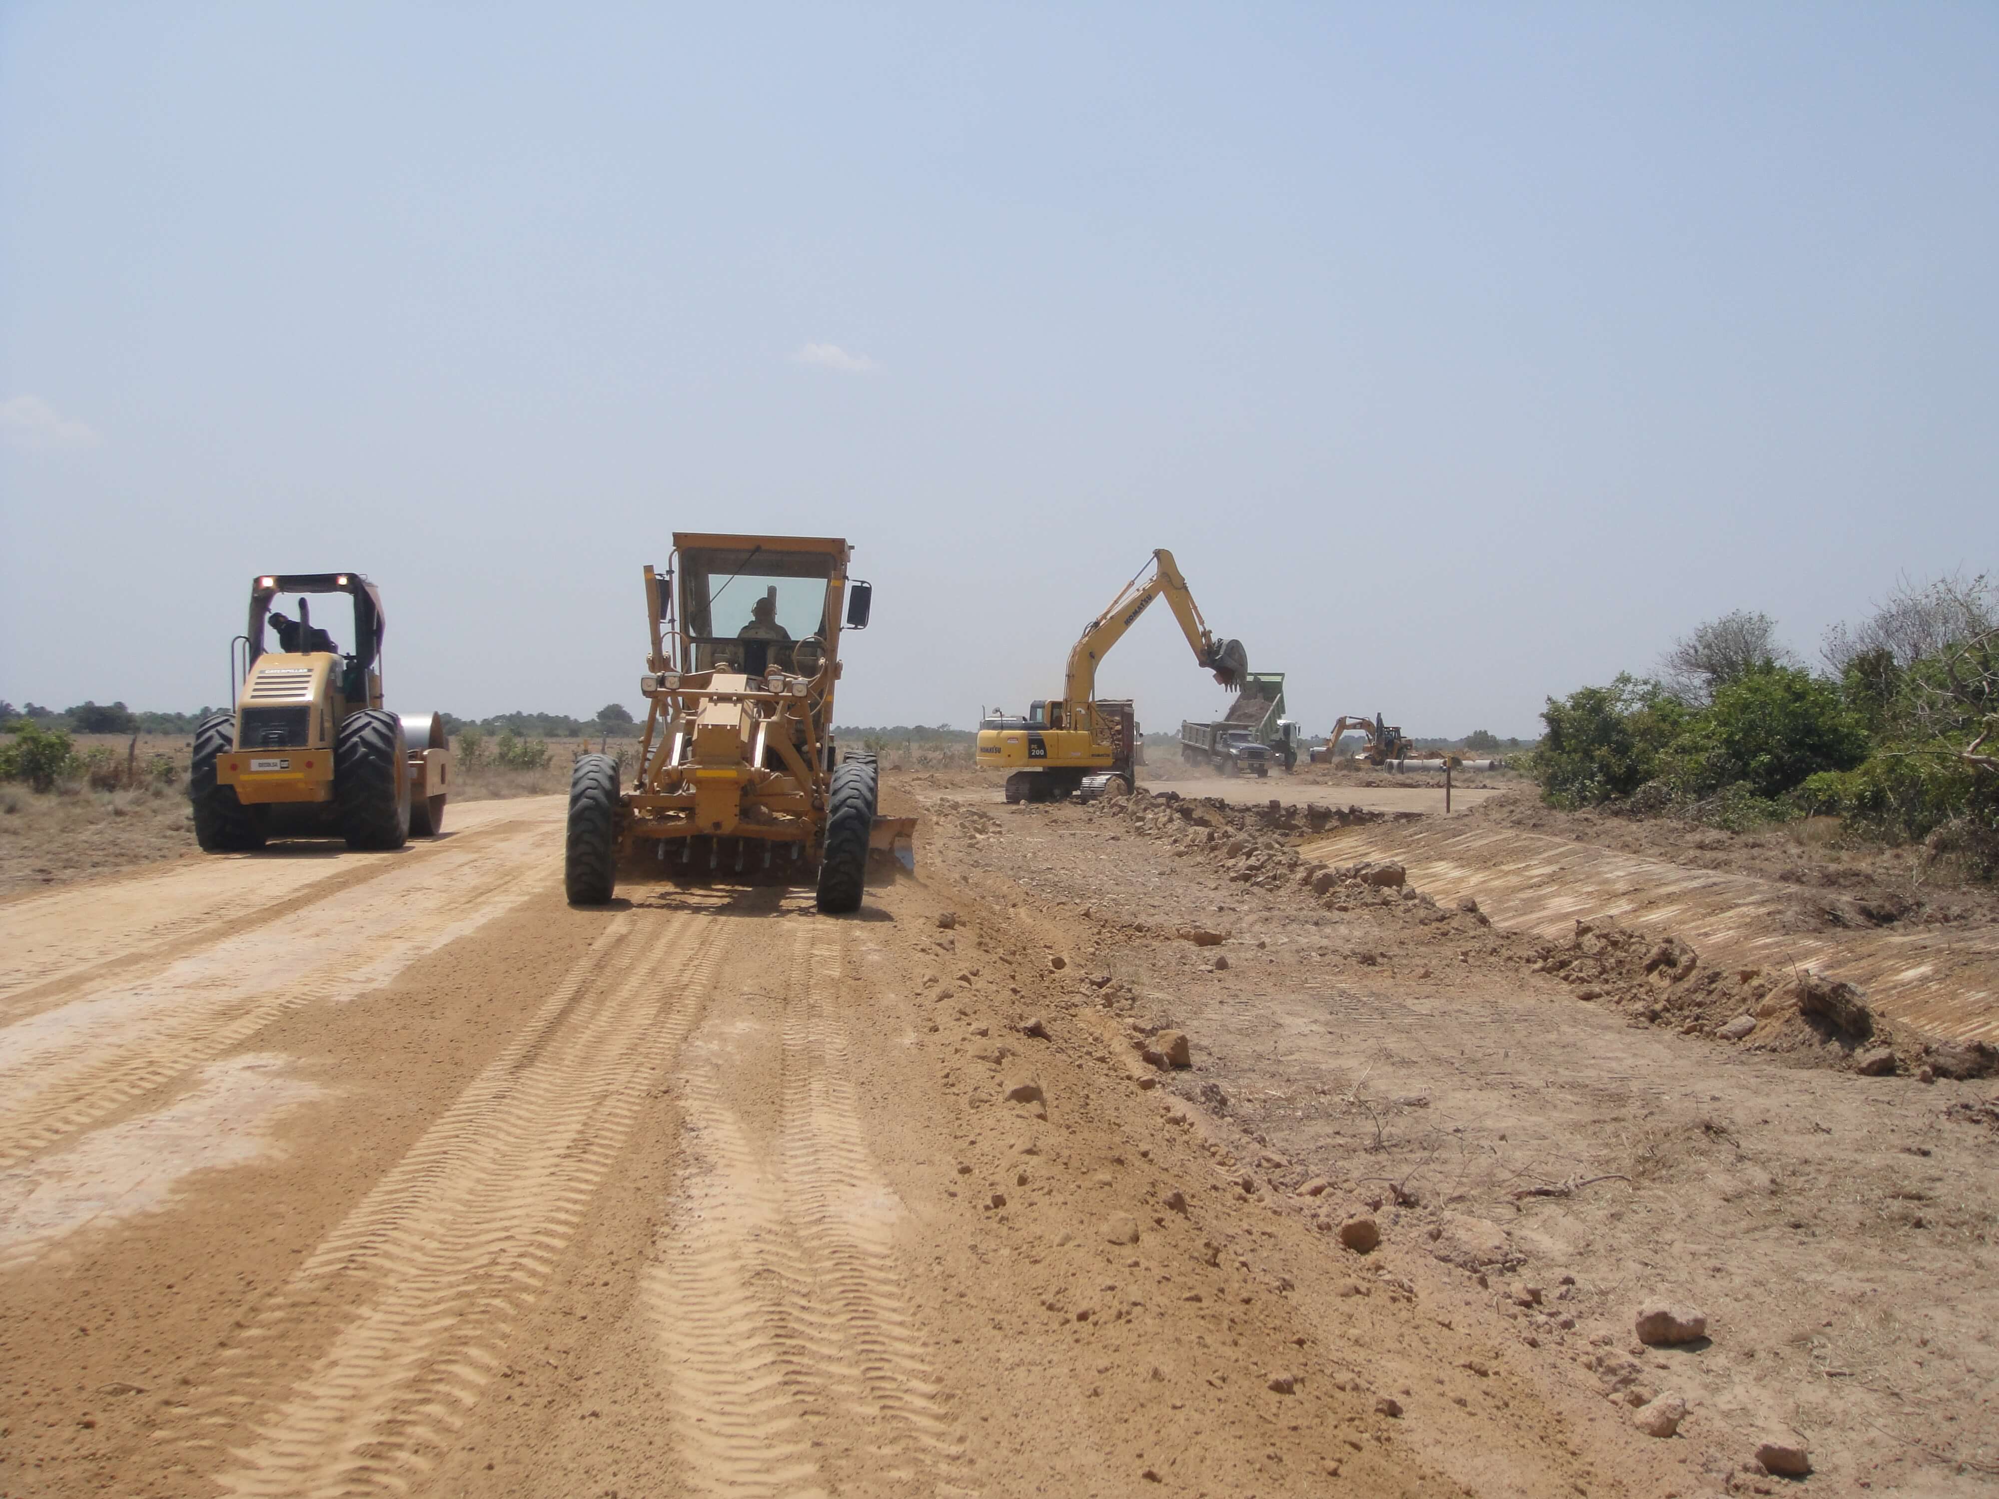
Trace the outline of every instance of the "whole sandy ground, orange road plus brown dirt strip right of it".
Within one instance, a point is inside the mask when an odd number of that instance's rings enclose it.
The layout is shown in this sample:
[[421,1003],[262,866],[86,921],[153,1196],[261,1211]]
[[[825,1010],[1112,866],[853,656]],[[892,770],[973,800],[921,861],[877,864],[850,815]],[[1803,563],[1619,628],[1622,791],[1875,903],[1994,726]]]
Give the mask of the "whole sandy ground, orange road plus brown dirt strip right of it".
[[[1989,1083],[890,795],[922,875],[850,919],[570,909],[558,799],[0,907],[0,1493],[1691,1495],[1771,1435],[1991,1483]],[[1637,1347],[1651,1293],[1711,1341]]]

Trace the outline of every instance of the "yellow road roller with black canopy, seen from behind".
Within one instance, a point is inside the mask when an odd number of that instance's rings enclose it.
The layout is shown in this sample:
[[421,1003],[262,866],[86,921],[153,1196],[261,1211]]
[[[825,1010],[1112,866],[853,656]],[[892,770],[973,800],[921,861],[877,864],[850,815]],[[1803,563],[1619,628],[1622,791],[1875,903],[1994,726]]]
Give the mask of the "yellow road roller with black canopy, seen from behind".
[[[314,622],[314,598],[332,628]],[[236,706],[194,732],[194,837],[204,849],[324,835],[392,849],[410,833],[442,831],[444,720],[382,706],[384,628],[382,594],[358,572],[250,584],[250,624],[230,646]]]

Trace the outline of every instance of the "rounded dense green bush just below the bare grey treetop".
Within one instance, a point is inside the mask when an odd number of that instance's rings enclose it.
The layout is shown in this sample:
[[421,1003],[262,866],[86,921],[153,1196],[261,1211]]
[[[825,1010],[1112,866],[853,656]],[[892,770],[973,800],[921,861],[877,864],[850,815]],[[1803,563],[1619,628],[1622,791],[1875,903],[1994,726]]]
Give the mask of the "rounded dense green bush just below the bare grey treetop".
[[1661,755],[1685,797],[1743,785],[1773,801],[1821,771],[1867,759],[1867,734],[1839,690],[1791,666],[1759,666],[1715,692]]

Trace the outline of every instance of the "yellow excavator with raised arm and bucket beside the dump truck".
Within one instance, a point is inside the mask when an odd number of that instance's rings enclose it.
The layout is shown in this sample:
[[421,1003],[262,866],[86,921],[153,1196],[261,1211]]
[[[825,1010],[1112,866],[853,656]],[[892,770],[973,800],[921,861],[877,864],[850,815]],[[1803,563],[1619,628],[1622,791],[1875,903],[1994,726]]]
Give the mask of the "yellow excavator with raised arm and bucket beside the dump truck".
[[1173,554],[1153,552],[1151,578],[1139,582],[1143,572],[1139,568],[1131,576],[1075,642],[1061,698],[1027,704],[1023,718],[1009,718],[1000,710],[980,716],[978,763],[982,769],[1007,771],[1007,801],[1059,801],[1069,795],[1087,801],[1109,789],[1111,781],[1123,781],[1127,791],[1135,787],[1131,765],[1139,753],[1137,716],[1129,700],[1095,696],[1097,662],[1161,594],[1179,620],[1193,658],[1223,688],[1233,692],[1241,686],[1249,672],[1247,652],[1239,640],[1209,634]]

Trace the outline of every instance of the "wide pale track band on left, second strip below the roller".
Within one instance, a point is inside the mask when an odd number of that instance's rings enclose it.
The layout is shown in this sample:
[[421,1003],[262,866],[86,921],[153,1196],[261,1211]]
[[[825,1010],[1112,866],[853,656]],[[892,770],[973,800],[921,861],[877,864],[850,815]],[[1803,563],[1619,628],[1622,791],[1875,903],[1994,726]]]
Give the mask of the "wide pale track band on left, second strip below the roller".
[[[312,907],[286,941],[252,929],[138,983],[0,1027],[0,1169],[242,1045],[316,1001],[362,995],[544,887],[546,835],[400,867]],[[512,857],[506,857],[512,855]]]

